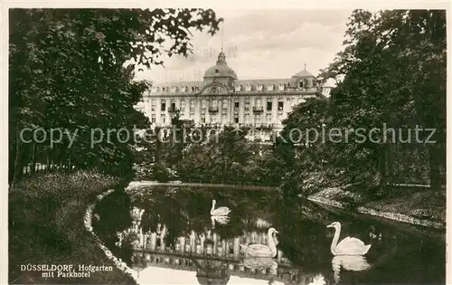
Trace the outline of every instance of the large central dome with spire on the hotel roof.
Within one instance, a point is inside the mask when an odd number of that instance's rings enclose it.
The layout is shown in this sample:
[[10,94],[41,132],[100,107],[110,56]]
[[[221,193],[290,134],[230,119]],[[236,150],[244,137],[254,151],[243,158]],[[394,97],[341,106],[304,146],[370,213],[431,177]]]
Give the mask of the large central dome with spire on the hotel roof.
[[203,78],[204,85],[221,83],[227,89],[231,89],[234,86],[234,81],[237,80],[237,74],[228,66],[226,54],[221,51],[218,54],[217,63],[205,71]]

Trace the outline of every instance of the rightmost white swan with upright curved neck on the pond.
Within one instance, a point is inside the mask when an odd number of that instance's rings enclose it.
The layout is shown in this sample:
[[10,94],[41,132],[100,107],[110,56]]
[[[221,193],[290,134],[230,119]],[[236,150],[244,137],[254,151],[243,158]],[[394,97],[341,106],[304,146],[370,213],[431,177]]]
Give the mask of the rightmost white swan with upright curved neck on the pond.
[[365,245],[363,241],[349,236],[338,244],[339,234],[341,234],[341,223],[334,222],[326,227],[335,229],[333,242],[331,242],[331,253],[334,255],[364,255],[369,252],[372,246],[372,244]]

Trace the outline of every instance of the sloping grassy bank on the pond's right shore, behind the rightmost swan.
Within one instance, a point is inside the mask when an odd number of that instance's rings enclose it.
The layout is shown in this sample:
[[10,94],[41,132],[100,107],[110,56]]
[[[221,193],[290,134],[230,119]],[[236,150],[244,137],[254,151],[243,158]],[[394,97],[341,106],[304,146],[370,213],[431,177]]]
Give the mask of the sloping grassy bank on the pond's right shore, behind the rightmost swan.
[[[367,189],[353,185],[345,189],[327,188],[310,195],[313,201],[324,201],[350,212],[380,215],[395,221],[432,224],[446,227],[446,189],[432,191],[423,187],[388,185]],[[436,224],[436,225],[433,225]]]

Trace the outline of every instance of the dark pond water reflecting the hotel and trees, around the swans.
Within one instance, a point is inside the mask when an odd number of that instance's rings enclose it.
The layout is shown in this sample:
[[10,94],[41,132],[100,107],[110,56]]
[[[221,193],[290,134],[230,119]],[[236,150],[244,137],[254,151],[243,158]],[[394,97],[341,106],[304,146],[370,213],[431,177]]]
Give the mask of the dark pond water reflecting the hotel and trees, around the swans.
[[[282,203],[271,191],[153,186],[131,190],[131,267],[141,284],[445,284],[446,244],[393,224],[338,214],[309,201]],[[231,209],[227,218],[210,214]],[[99,223],[108,221],[100,217]],[[334,256],[346,236],[372,244],[364,256]],[[278,233],[268,233],[274,228]],[[276,246],[276,256],[248,251]],[[116,252],[118,252],[116,249]],[[267,249],[267,248],[266,248]],[[246,253],[247,252],[247,253]],[[271,252],[271,251],[270,251]],[[259,253],[259,252],[258,252]],[[123,257],[124,258],[124,257]]]

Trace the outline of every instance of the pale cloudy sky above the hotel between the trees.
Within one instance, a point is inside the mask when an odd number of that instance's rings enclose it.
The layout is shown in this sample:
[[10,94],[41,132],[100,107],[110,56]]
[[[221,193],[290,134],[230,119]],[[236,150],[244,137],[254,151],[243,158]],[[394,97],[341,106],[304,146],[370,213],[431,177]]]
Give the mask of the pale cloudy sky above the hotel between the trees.
[[[193,32],[193,55],[163,58],[165,68],[140,71],[137,79],[155,82],[199,81],[218,53],[239,80],[290,78],[305,68],[314,75],[342,51],[352,10],[220,10],[224,18],[215,35]],[[222,39],[222,41],[221,41]]]

